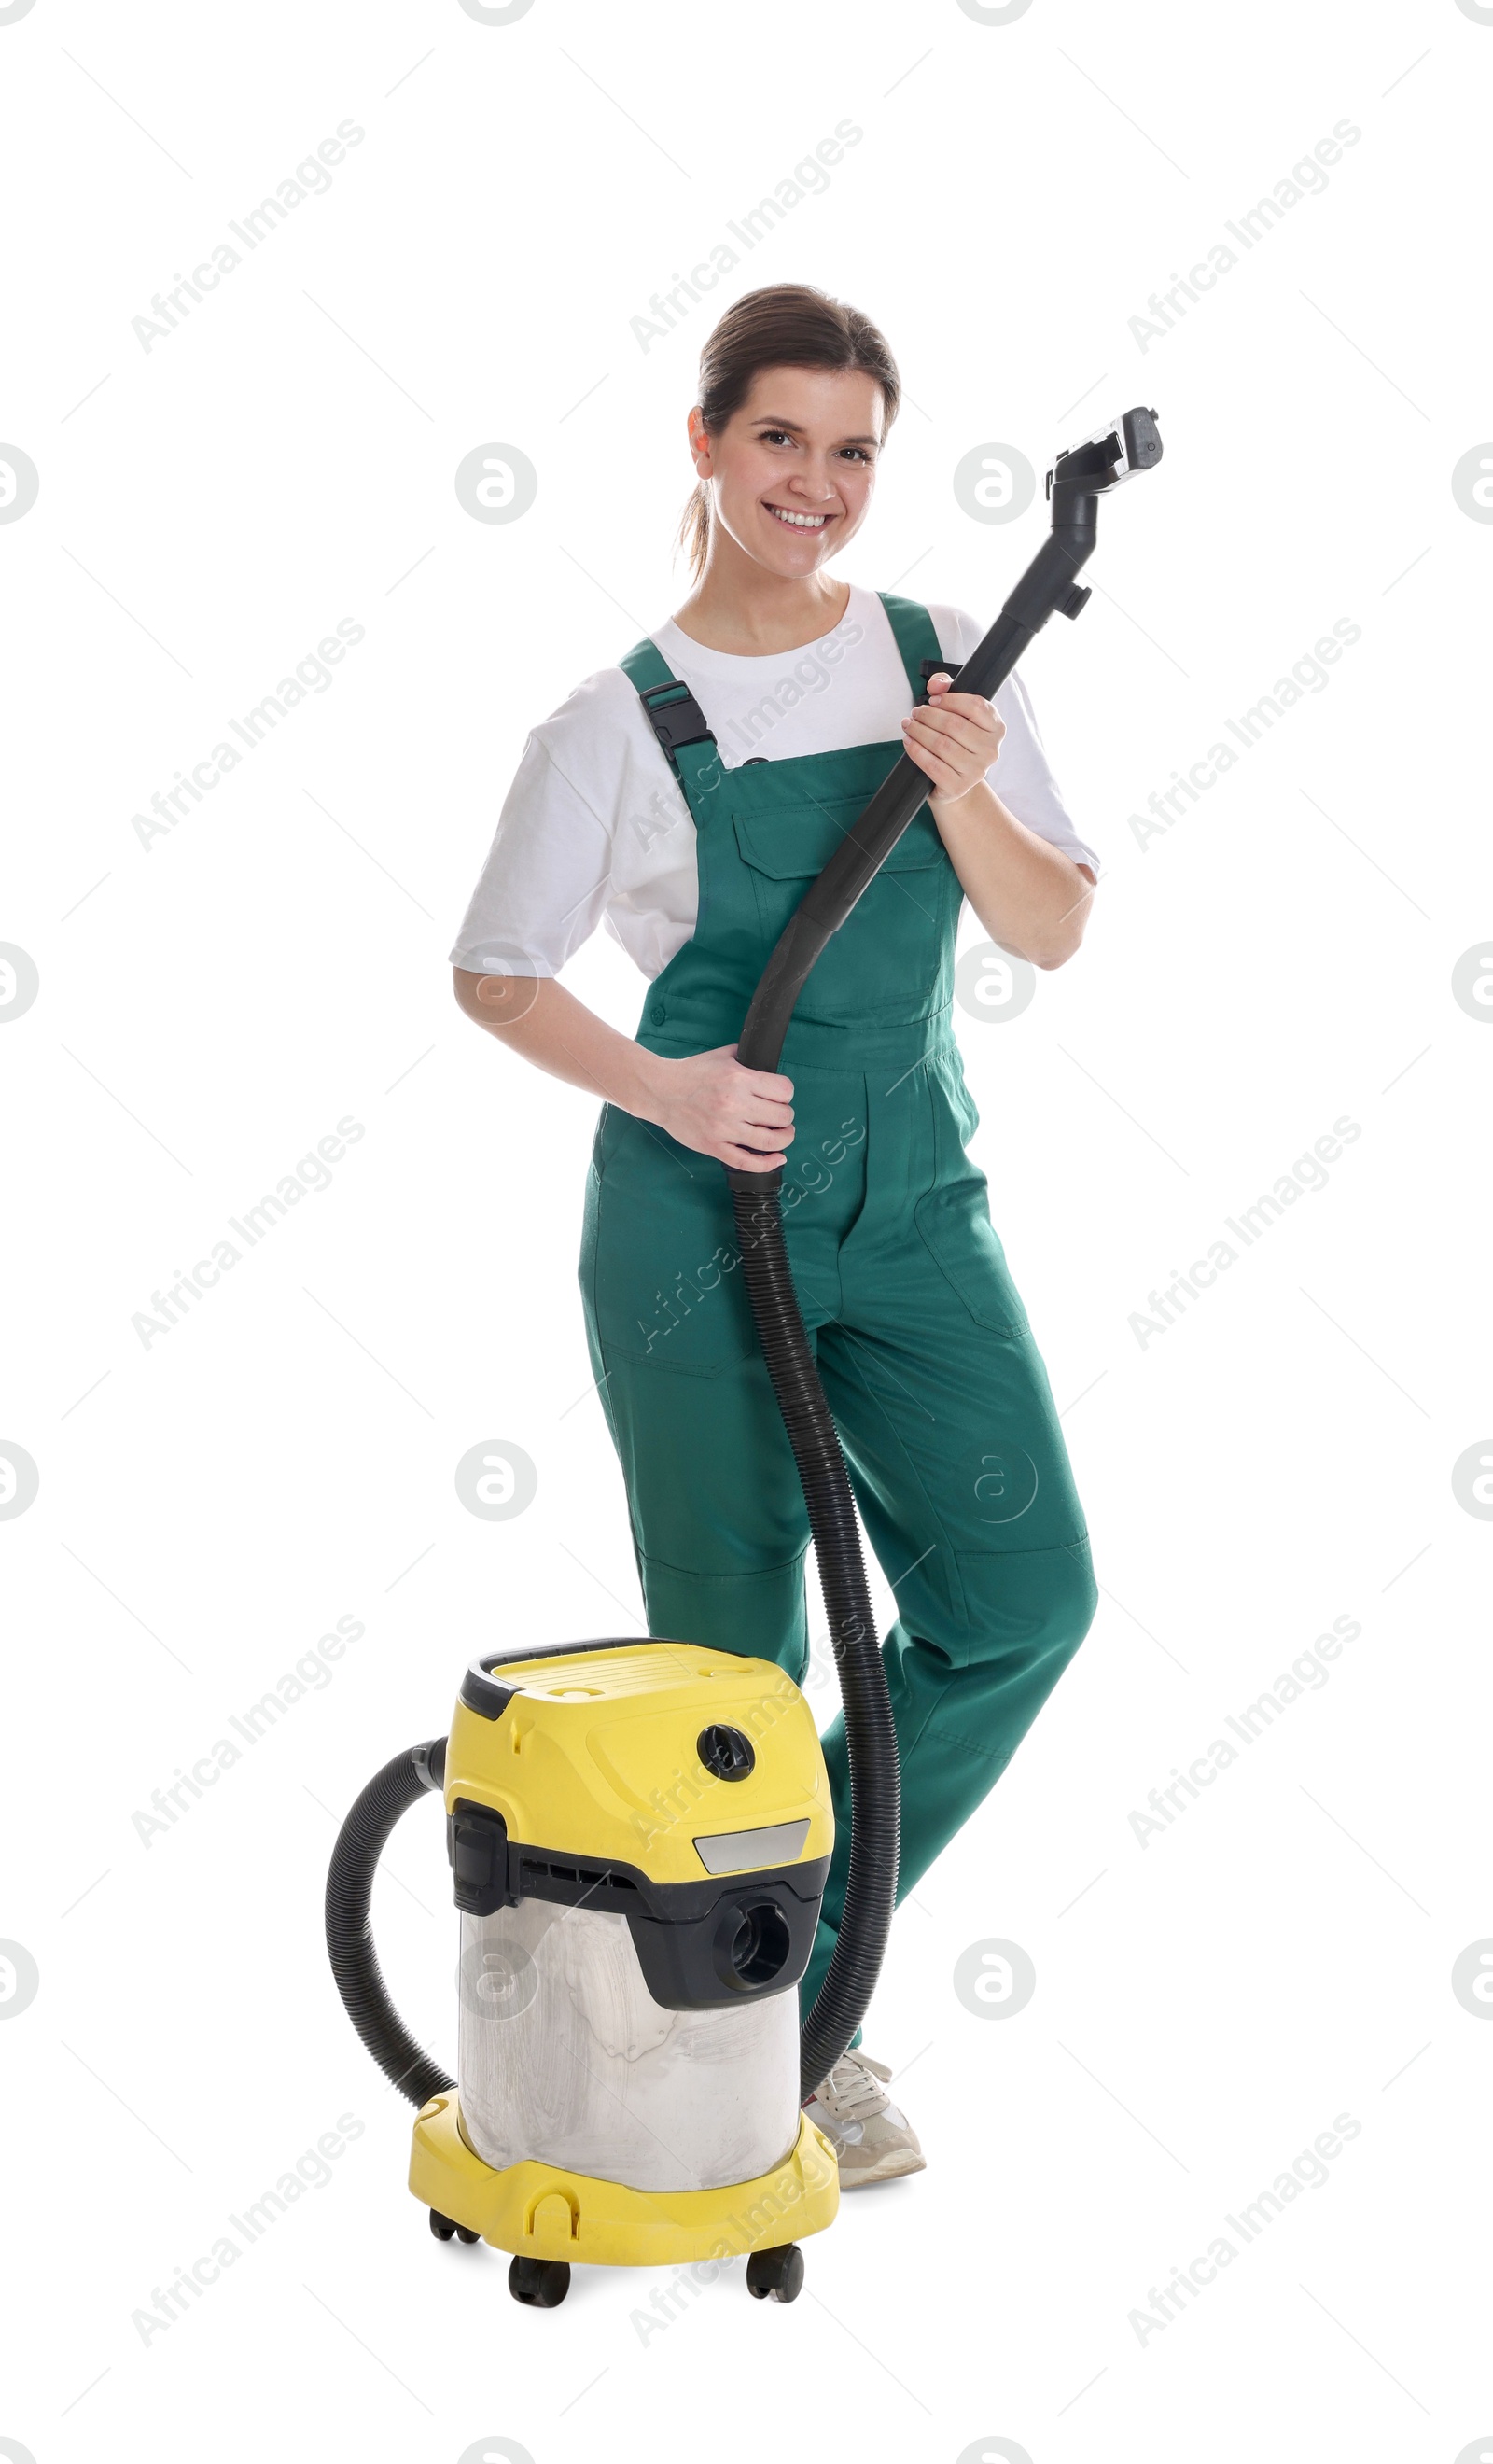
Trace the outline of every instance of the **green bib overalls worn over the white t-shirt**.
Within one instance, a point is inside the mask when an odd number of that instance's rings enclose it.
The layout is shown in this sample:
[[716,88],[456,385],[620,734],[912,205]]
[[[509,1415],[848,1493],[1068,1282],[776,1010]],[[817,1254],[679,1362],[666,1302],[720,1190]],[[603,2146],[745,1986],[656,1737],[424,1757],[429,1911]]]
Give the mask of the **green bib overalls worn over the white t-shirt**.
[[[882,594],[912,685],[939,660]],[[623,658],[668,685],[650,641]],[[682,690],[682,687],[680,687]],[[828,687],[833,692],[833,685]],[[742,1032],[779,931],[902,742],[727,769],[670,754],[697,830],[695,939],[650,983],[638,1042]],[[1052,1390],[968,1161],[978,1114],[951,1032],[961,885],[924,803],[818,961],[793,1082],[788,1259],[867,1540],[897,1599],[882,1656],[902,1749],[904,1897],[995,1784],[1096,1607]],[[648,1631],[808,1666],[808,1515],[756,1343],[724,1168],[606,1106],[586,1180],[586,1335],[621,1456]],[[845,1722],[823,1740],[835,1855],[801,2006],[845,1897]]]

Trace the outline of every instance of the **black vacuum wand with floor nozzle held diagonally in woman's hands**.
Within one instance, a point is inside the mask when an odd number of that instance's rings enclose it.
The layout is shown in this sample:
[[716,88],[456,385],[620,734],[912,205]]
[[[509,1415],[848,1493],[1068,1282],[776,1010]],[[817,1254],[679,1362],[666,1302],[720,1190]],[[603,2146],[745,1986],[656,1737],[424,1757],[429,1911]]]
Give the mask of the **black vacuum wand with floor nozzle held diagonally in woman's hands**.
[[[1052,530],[985,638],[958,668],[961,692],[993,697],[1054,611],[1077,616],[1086,606],[1089,591],[1077,582],[1077,574],[1094,554],[1099,498],[1133,478],[1136,471],[1153,471],[1158,461],[1155,411],[1146,409],[1123,411],[1096,436],[1086,436],[1084,444],[1057,456],[1047,473]],[[902,754],[845,833],[845,843],[803,894],[746,1010],[737,1042],[737,1060],[746,1069],[779,1067],[793,1003],[815,958],[877,877],[926,793],[929,774],[909,754]],[[761,1188],[769,1175],[732,1170],[729,1178],[732,1188]]]

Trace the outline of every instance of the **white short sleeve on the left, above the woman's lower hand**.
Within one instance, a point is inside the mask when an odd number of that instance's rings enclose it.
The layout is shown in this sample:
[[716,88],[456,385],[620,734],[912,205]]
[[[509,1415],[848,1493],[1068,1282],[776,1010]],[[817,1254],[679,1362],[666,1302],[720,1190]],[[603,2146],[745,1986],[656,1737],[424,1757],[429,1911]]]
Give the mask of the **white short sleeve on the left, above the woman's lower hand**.
[[503,798],[451,966],[483,976],[559,976],[606,912],[611,845],[611,828],[532,734]]

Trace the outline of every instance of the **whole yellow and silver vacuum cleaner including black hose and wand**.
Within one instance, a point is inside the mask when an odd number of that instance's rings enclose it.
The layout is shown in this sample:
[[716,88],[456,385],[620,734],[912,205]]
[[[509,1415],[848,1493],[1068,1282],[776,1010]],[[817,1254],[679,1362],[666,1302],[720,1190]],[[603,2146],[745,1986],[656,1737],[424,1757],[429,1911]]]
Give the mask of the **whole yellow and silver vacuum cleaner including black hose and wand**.
[[[1099,498],[1160,461],[1133,409],[1057,456],[1052,530],[958,670],[995,695],[1047,616],[1077,616]],[[934,670],[936,673],[936,670]],[[710,734],[687,685],[668,742]],[[658,715],[655,715],[658,717]],[[916,816],[899,756],[788,919],[737,1057],[779,1067],[811,968]],[[783,1239],[783,1170],[727,1168],[764,1360],[793,1446],[845,1703],[850,1875],[835,1956],[798,2030],[835,1843],[806,1698],[774,1663],[668,1636],[483,1653],[446,1737],[357,1796],[328,1873],[338,1991],[416,2107],[409,2188],[439,2240],[510,2252],[510,2292],[554,2309],[572,2264],[746,2257],[793,2301],[798,2242],[833,2223],[835,2151],[803,2112],[870,2003],[897,1900],[899,1767],[855,1503]],[[461,1912],[458,2080],[411,2038],[379,1974],[374,1873],[436,1794]]]

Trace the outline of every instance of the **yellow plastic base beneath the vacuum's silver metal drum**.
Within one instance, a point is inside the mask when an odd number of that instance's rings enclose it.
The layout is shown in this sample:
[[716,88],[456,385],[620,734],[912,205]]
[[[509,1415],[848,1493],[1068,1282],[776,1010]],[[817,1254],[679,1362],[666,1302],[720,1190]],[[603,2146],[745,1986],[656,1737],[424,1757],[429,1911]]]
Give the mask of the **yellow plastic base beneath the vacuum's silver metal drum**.
[[416,2114],[409,2188],[495,2250],[591,2267],[673,2267],[823,2232],[840,2205],[840,2168],[803,2114],[781,2166],[724,2190],[628,2190],[532,2161],[498,2173],[468,2149],[456,2097],[443,2094]]

